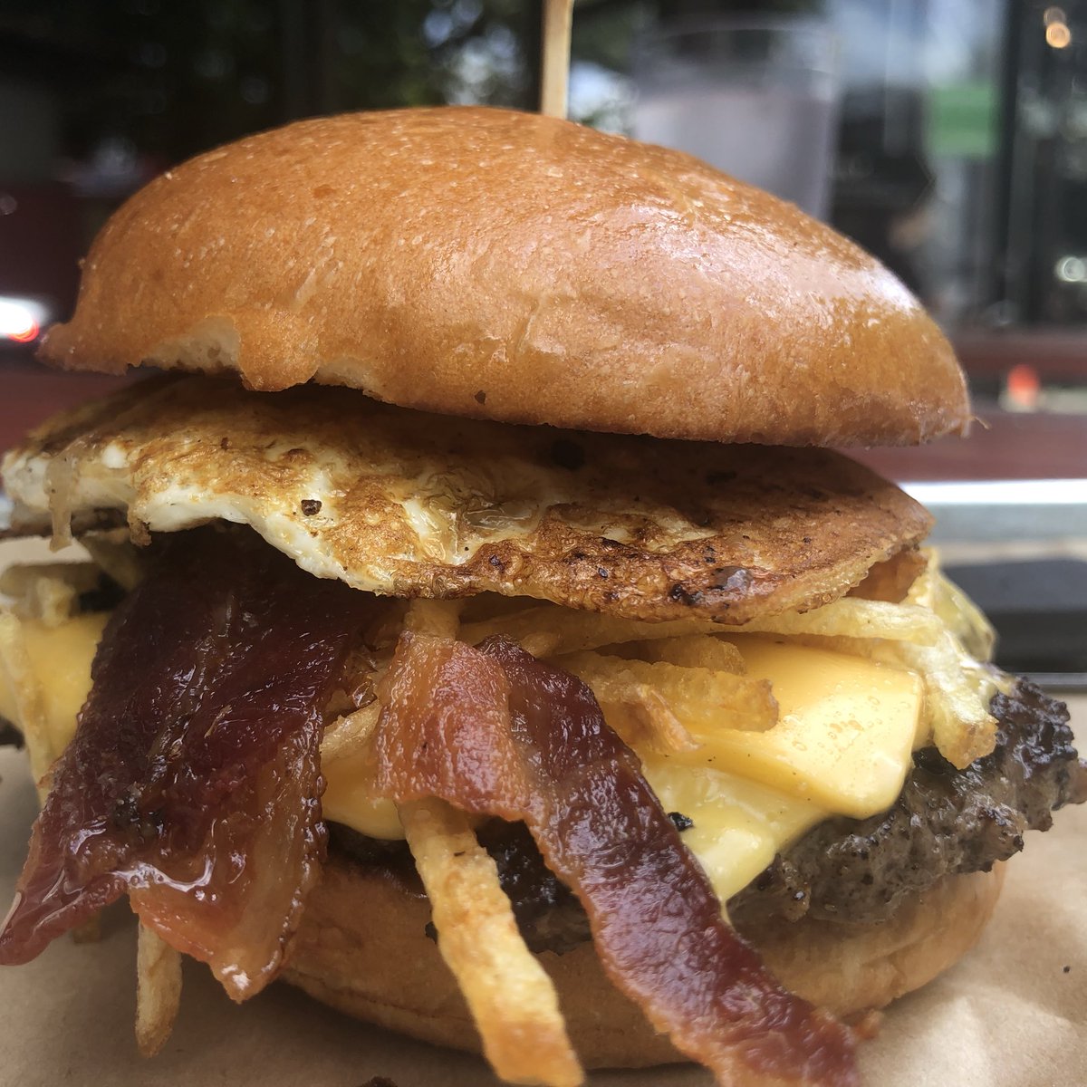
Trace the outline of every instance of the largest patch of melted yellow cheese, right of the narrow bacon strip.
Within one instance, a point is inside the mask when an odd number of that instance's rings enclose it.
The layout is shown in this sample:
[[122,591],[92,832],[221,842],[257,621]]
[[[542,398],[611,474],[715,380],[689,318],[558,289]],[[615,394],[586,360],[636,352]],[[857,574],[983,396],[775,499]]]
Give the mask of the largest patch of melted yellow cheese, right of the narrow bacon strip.
[[735,644],[748,674],[770,680],[778,723],[764,733],[722,729],[705,766],[642,760],[665,810],[694,821],[683,840],[722,902],[828,815],[889,808],[926,738],[911,672],[780,639]]

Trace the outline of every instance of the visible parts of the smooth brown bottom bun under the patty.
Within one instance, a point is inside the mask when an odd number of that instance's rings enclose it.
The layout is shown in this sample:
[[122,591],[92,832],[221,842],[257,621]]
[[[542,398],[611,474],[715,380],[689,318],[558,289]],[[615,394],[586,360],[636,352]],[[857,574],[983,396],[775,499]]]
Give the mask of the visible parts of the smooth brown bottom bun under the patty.
[[[876,925],[803,920],[745,930],[794,992],[841,1016],[882,1008],[947,970],[989,920],[1003,874],[950,876]],[[467,1007],[437,946],[430,909],[391,873],[335,854],[310,896],[283,977],[339,1011],[455,1049],[479,1051]],[[587,1067],[685,1058],[604,976],[591,944],[540,957]]]

